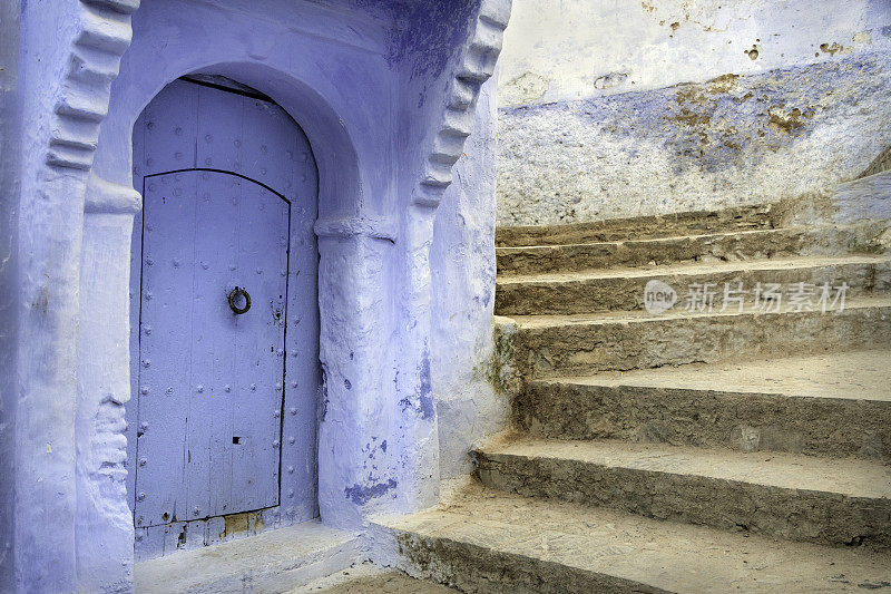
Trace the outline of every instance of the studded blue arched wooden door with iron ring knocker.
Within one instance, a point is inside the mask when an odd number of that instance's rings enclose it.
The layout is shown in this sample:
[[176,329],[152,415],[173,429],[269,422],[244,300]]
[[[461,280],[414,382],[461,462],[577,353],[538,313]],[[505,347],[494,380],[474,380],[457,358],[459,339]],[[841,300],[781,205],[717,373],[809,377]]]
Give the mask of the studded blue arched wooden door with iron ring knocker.
[[317,516],[317,172],[300,126],[223,77],[134,127],[128,499],[136,557]]

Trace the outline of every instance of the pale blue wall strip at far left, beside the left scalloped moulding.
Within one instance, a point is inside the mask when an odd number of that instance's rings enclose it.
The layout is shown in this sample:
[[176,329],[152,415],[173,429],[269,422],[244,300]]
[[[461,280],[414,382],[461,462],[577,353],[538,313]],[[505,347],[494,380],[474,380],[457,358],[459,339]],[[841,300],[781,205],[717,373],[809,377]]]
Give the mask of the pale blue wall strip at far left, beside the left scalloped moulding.
[[[48,172],[63,81],[84,31],[79,6],[17,3],[19,52],[16,143],[18,270],[14,398],[14,580],[32,591],[76,582],[75,480],[77,286],[82,169]],[[52,31],[53,35],[47,35]],[[25,99],[27,98],[27,100]],[[60,199],[61,197],[66,199]],[[16,198],[13,198],[16,199]],[[52,240],[50,240],[52,237]]]

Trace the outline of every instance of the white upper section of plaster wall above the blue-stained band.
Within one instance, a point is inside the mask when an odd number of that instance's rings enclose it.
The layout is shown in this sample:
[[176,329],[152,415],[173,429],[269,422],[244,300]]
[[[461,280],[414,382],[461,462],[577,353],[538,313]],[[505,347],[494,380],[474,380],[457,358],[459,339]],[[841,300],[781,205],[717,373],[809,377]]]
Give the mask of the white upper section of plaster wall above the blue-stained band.
[[516,0],[498,91],[502,107],[567,101],[883,49],[884,0]]

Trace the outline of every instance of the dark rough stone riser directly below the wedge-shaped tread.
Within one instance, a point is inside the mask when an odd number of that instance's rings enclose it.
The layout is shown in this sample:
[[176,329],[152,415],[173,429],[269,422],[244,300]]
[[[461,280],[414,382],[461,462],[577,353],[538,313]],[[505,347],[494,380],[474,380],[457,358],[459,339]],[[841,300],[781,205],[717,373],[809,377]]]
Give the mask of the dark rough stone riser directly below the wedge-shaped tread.
[[515,398],[513,420],[549,438],[891,459],[891,401],[881,400],[542,380]]

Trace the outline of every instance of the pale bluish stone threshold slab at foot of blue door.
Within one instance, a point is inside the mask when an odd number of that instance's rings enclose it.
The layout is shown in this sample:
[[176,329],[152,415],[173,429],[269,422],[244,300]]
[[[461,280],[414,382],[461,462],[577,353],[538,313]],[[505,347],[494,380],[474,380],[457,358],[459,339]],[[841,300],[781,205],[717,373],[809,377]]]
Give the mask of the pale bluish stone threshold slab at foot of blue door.
[[286,592],[364,561],[363,543],[316,518],[137,563],[136,592]]

